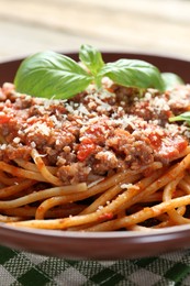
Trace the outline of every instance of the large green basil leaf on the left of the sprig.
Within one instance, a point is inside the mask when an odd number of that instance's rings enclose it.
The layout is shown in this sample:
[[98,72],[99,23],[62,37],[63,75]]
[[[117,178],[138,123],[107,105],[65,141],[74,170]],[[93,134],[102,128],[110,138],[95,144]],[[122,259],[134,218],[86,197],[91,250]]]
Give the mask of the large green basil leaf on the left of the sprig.
[[75,61],[47,51],[21,63],[14,85],[22,94],[66,99],[83,91],[91,80],[92,77]]

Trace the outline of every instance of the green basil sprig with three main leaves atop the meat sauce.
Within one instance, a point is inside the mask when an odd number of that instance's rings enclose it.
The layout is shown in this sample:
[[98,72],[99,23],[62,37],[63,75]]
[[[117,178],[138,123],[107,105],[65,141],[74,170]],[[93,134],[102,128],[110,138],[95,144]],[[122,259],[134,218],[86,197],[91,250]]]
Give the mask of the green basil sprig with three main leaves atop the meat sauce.
[[166,76],[144,61],[123,58],[105,64],[101,53],[90,45],[80,47],[79,59],[85,67],[58,53],[34,54],[21,63],[14,78],[15,89],[35,97],[67,99],[91,82],[100,88],[105,76],[126,87],[152,87],[160,91],[167,87]]

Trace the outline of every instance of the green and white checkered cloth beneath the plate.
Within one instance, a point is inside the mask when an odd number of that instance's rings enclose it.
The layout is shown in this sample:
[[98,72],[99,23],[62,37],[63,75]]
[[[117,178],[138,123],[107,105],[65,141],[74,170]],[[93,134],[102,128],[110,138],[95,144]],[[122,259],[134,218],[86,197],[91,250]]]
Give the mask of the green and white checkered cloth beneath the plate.
[[71,261],[0,246],[0,286],[190,285],[190,250],[141,260]]

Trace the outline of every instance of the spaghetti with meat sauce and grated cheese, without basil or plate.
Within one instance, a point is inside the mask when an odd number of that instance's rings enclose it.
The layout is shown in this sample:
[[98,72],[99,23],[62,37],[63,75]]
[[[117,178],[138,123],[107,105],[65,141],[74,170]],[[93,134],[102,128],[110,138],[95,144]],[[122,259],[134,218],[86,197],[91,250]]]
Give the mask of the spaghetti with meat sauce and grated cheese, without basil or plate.
[[90,86],[68,100],[0,89],[0,221],[72,230],[190,223],[190,87]]

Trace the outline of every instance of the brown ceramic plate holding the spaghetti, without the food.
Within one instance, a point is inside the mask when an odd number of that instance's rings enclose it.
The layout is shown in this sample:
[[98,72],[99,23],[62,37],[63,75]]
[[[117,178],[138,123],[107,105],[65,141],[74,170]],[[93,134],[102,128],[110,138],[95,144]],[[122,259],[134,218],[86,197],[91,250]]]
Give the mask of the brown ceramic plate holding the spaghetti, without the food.
[[[68,54],[77,59],[76,54]],[[104,53],[105,62],[121,57],[139,58],[156,65],[161,72],[177,73],[190,82],[190,62],[155,55]],[[0,64],[0,85],[12,81],[20,59]],[[18,250],[65,258],[116,260],[157,255],[190,248],[190,226],[172,227],[153,232],[71,232],[34,230],[0,223],[0,244]]]

